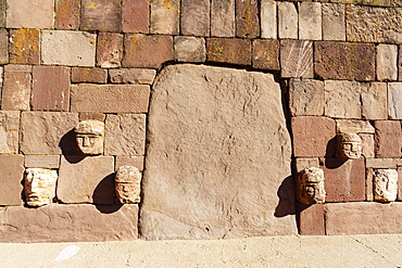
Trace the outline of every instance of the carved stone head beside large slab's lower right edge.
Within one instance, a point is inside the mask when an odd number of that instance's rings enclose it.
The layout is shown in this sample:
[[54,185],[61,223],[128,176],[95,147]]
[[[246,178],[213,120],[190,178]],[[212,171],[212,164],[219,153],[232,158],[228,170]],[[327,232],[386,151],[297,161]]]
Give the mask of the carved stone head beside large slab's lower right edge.
[[304,168],[298,175],[298,200],[303,204],[325,202],[324,171],[318,167]]

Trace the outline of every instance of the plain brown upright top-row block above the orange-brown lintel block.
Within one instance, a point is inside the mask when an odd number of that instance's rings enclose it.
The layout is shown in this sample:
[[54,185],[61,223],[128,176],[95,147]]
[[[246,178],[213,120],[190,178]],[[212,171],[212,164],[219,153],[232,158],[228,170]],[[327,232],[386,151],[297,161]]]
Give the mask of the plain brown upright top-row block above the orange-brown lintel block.
[[235,0],[211,1],[211,36],[235,37]]

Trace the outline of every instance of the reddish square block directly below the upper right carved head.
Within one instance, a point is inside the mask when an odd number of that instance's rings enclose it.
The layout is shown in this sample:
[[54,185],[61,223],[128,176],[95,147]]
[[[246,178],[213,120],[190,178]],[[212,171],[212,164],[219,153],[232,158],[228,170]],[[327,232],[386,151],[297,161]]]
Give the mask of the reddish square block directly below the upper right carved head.
[[366,174],[363,157],[351,161],[325,158],[323,162],[326,202],[365,200]]

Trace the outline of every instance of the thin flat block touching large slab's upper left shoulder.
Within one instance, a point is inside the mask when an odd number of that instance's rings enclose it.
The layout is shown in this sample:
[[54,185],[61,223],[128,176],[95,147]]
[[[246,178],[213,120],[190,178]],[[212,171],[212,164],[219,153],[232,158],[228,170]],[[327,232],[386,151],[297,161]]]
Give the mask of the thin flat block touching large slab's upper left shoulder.
[[111,82],[152,85],[156,71],[152,68],[118,68],[110,69]]

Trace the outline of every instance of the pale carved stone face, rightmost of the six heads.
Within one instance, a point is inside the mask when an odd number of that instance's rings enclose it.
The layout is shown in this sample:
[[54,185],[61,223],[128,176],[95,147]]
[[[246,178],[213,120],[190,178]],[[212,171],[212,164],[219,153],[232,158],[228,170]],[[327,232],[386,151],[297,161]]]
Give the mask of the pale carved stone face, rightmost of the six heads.
[[395,169],[376,169],[374,171],[374,200],[379,202],[395,201],[398,193],[398,171]]

